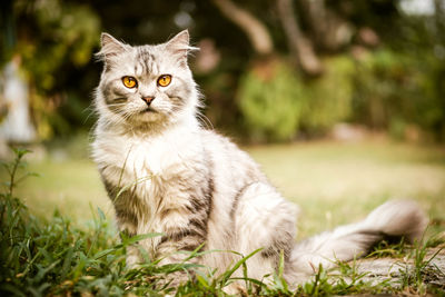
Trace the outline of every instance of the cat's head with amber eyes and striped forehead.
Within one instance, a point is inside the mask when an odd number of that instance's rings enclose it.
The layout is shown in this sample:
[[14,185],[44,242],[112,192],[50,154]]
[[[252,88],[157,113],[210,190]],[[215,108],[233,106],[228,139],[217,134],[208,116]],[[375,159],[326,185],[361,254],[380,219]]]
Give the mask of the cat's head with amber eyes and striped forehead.
[[167,126],[195,117],[196,83],[187,65],[185,30],[166,43],[132,47],[101,36],[103,72],[96,95],[99,117],[111,125]]

